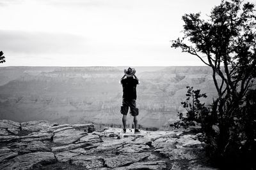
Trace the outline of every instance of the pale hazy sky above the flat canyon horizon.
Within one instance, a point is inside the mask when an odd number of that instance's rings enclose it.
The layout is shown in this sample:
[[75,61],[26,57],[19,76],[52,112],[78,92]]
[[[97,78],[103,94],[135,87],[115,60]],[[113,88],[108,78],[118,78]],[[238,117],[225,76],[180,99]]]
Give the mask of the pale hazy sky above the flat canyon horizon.
[[0,66],[198,66],[171,48],[221,0],[0,0]]

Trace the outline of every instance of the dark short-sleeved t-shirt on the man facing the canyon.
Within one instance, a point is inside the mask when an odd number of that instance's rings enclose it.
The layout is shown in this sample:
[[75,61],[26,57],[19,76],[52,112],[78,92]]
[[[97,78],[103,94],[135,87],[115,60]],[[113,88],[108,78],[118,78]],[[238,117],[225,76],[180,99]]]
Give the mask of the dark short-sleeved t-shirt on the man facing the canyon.
[[138,80],[134,78],[124,78],[121,80],[123,86],[123,99],[132,100],[137,99],[136,86],[138,85]]

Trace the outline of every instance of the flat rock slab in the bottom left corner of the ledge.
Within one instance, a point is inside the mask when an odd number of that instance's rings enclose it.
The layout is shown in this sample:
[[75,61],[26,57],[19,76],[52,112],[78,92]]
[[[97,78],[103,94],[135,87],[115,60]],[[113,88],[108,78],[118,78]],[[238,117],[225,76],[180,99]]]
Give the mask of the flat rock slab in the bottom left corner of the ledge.
[[52,152],[34,152],[19,155],[8,162],[0,164],[0,169],[33,169],[36,166],[56,162]]

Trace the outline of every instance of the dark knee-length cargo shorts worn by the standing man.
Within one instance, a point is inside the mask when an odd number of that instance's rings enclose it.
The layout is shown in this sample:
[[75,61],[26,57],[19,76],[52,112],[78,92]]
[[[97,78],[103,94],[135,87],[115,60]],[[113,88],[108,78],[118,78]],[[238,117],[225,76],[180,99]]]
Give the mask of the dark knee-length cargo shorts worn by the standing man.
[[122,115],[127,115],[129,107],[130,107],[130,110],[131,110],[132,117],[135,117],[135,116],[139,115],[139,109],[136,108],[136,100],[135,99],[133,99],[131,101],[123,99],[121,110],[120,110]]

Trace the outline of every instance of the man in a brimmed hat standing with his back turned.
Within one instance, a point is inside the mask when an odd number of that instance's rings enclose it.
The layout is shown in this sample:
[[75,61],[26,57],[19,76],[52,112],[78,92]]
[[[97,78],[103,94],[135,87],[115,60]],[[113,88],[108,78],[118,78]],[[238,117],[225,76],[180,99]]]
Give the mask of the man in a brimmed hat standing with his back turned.
[[[134,133],[140,133],[138,129],[137,116],[139,115],[139,110],[136,108],[136,86],[140,83],[138,78],[135,76],[135,69],[129,67],[124,70],[124,76],[121,78],[120,83],[123,86],[123,101],[121,106],[121,113],[123,115],[122,122],[124,125],[124,133],[126,132],[126,117],[128,109],[130,107],[131,115],[134,117]],[[126,76],[126,78],[125,78]]]

